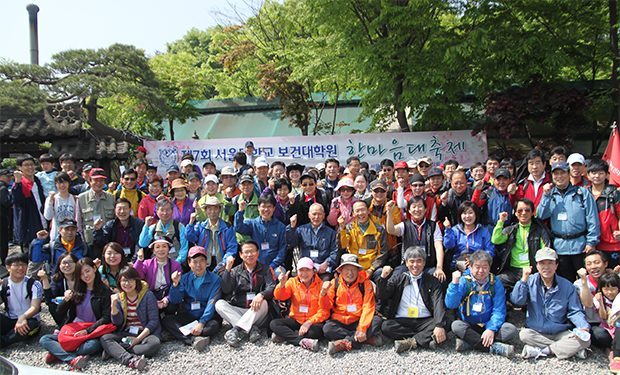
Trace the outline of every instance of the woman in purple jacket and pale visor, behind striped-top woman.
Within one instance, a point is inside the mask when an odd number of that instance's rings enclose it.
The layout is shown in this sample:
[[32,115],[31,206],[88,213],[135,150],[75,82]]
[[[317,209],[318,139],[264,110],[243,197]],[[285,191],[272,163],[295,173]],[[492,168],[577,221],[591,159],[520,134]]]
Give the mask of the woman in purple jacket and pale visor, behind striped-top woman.
[[140,274],[140,278],[145,280],[148,288],[153,292],[157,300],[157,308],[164,314],[174,314],[175,305],[170,304],[168,294],[172,285],[171,276],[174,272],[182,272],[181,264],[168,257],[172,241],[170,238],[162,236],[156,237],[149,245],[154,257],[144,259],[144,251],[138,250],[138,260],[133,267]]

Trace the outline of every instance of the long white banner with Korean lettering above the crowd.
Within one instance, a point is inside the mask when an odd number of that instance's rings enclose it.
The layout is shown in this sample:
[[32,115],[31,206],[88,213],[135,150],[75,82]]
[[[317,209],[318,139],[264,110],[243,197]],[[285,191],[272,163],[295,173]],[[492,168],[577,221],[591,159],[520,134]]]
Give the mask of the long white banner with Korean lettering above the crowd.
[[233,156],[244,150],[245,142],[254,142],[255,155],[263,155],[269,163],[281,160],[314,166],[327,158],[336,158],[343,165],[350,156],[358,156],[371,168],[383,159],[419,159],[428,156],[435,165],[455,159],[469,168],[487,158],[484,132],[472,135],[471,130],[413,133],[371,133],[316,137],[226,138],[192,141],[144,142],[147,158],[158,166],[161,175],[166,168],[179,164],[186,153],[194,156],[195,164],[211,160],[218,169],[232,164]]

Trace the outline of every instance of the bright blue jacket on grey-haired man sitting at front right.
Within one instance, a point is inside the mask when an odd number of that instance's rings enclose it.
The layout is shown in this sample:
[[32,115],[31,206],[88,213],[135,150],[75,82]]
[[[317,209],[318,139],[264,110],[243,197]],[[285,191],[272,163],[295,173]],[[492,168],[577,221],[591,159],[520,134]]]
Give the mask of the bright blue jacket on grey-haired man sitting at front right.
[[[487,281],[482,293],[471,294],[478,284],[471,276],[462,276],[458,285],[450,283],[446,291],[446,307],[458,307],[461,320],[472,325],[483,324],[486,329],[497,332],[506,321],[506,292],[497,277],[490,275],[489,278],[493,278],[493,285],[491,280]],[[482,303],[481,311],[475,311],[474,305],[477,303]]]

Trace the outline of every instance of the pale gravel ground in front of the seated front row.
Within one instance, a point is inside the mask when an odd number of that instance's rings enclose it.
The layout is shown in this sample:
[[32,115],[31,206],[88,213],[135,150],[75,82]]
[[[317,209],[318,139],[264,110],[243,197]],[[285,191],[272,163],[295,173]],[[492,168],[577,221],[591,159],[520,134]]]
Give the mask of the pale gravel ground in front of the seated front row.
[[[53,331],[53,321],[43,306],[43,332]],[[522,313],[512,313],[511,321],[522,321]],[[519,319],[521,317],[521,319]],[[339,353],[334,357],[327,354],[327,344],[322,343],[318,353],[311,353],[299,347],[273,344],[266,337],[256,344],[245,343],[241,348],[230,348],[223,339],[224,329],[212,341],[209,348],[198,353],[192,348],[176,342],[163,344],[159,355],[150,359],[146,368],[149,374],[263,374],[306,373],[306,374],[411,374],[411,373],[497,373],[497,374],[600,374],[607,372],[605,353],[594,349],[588,359],[556,358],[538,361],[507,359],[490,354],[454,352],[454,336],[436,351],[417,350],[398,355],[393,343],[387,342],[381,348],[364,347],[351,353]],[[517,345],[520,353],[521,344]],[[67,365],[47,366],[43,362],[45,351],[36,341],[14,345],[0,352],[12,361],[43,368],[68,370]],[[126,374],[127,367],[113,359],[102,361],[91,359],[86,373]]]

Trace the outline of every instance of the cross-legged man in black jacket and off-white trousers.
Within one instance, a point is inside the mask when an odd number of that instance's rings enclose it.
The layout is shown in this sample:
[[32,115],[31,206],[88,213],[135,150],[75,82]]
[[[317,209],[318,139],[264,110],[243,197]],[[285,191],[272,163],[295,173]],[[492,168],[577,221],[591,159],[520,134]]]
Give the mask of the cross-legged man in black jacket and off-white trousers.
[[232,328],[224,339],[228,345],[238,347],[249,334],[250,342],[260,339],[260,328],[268,320],[268,301],[273,298],[275,277],[269,266],[258,261],[258,244],[246,241],[241,244],[243,263],[233,268],[234,258],[226,259],[222,273],[222,292],[226,299],[215,304],[217,313]]

